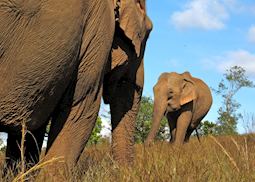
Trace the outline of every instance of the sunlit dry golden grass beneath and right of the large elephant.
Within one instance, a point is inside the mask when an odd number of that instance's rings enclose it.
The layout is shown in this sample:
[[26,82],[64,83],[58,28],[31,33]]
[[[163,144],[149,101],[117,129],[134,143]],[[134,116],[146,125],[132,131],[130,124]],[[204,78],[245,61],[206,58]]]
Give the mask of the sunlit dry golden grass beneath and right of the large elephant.
[[[181,149],[167,142],[135,147],[132,167],[118,166],[108,144],[88,147],[73,175],[63,173],[63,181],[255,181],[255,135],[202,137],[201,143],[194,138]],[[3,161],[2,154],[2,168]],[[13,179],[10,173],[0,181]]]

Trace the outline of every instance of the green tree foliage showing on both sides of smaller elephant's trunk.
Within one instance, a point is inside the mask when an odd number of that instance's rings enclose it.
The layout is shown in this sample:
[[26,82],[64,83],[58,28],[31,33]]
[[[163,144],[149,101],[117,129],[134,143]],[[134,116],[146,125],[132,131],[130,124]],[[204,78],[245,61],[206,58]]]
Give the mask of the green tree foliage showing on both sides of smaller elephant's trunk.
[[[135,142],[143,143],[151,129],[153,114],[153,100],[151,97],[142,97],[140,110],[136,119]],[[156,139],[165,140],[169,137],[167,132],[167,120],[162,119]]]

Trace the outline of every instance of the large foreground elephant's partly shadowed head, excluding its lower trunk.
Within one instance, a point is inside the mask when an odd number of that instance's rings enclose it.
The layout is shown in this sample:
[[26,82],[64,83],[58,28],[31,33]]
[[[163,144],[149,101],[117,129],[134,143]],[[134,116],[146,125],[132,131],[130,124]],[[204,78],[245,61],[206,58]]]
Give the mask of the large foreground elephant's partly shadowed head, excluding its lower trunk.
[[[132,82],[143,87],[143,76],[136,77],[142,63],[152,22],[146,14],[145,0],[114,0],[115,34],[104,80],[104,101],[110,103],[116,87]],[[138,74],[143,75],[143,68]]]

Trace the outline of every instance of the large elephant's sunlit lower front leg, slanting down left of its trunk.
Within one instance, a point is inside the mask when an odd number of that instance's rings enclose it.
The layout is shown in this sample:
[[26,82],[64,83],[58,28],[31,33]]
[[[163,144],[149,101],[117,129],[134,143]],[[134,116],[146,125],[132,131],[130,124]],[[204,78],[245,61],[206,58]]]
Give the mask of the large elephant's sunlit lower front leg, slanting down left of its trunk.
[[[93,93],[93,96],[87,96],[85,100],[72,107],[66,123],[45,156],[45,160],[54,157],[63,158],[61,160],[65,163],[62,163],[63,166],[61,167],[59,164],[49,166],[50,171],[63,170],[65,165],[68,169],[72,169],[78,161],[95,125],[100,106],[101,90]],[[59,115],[56,121],[60,121],[61,117]]]

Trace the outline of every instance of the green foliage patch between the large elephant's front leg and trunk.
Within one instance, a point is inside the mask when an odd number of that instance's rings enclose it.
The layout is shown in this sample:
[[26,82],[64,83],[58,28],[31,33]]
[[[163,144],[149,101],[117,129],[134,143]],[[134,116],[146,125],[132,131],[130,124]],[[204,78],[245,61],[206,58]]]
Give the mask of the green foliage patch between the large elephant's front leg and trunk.
[[88,145],[95,145],[97,143],[100,142],[102,136],[100,134],[101,130],[102,130],[103,126],[102,126],[102,119],[100,118],[100,116],[97,117],[97,121],[95,124],[94,129],[92,130],[92,133],[90,135],[89,141],[88,141]]

